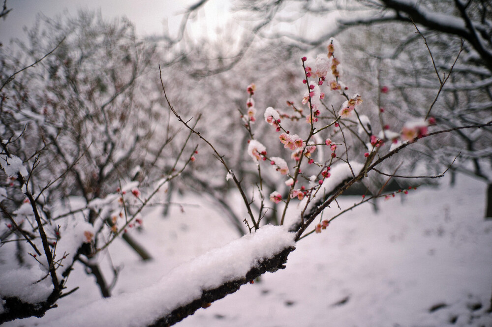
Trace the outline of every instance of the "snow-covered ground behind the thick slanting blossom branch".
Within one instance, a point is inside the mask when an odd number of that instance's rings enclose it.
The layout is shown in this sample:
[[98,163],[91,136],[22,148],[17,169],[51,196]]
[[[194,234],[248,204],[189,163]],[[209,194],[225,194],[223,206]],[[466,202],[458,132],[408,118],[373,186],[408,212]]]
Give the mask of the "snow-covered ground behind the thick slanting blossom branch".
[[[492,221],[483,218],[486,185],[464,176],[452,188],[448,179],[440,182],[438,189],[422,187],[380,199],[377,213],[367,205],[347,212],[321,234],[299,241],[286,269],[263,275],[176,326],[491,327],[492,314],[486,311],[492,296]],[[339,205],[359,200],[343,197]],[[144,217],[141,233],[131,232],[152,253],[152,262],[141,263],[123,242],[98,258],[108,282],[108,262],[121,268],[115,296],[152,285],[180,263],[238,238],[206,199],[179,202],[184,212],[176,206],[163,218],[156,208]],[[323,217],[338,210],[332,206]],[[45,317],[3,326],[49,326],[100,299],[81,266],[67,286],[80,289]]]

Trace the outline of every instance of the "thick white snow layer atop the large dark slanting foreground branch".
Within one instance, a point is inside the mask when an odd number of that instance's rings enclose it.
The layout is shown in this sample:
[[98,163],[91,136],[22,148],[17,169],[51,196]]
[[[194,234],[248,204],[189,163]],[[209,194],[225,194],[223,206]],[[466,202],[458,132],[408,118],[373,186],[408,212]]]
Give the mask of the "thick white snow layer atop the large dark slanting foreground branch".
[[226,281],[244,277],[262,259],[295,246],[295,235],[283,227],[266,225],[229,244],[209,251],[165,275],[155,285],[137,292],[101,299],[70,316],[39,326],[140,327],[178,306],[201,297]]

